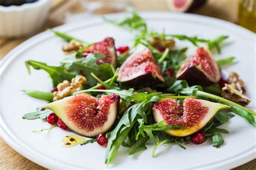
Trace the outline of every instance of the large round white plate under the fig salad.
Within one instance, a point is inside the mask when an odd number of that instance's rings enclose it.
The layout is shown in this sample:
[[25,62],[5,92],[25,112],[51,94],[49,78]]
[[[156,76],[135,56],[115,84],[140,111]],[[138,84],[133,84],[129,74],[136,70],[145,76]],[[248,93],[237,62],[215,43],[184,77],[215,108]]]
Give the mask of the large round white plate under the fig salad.
[[[109,15],[120,17],[126,14]],[[143,13],[149,30],[166,33],[199,35],[214,38],[228,35],[227,45],[217,59],[236,56],[239,61],[227,70],[239,73],[246,82],[255,110],[255,34],[223,20],[191,14]],[[103,22],[101,18],[91,18],[84,22],[57,27],[89,42],[104,37],[116,39],[116,45],[127,45],[133,36],[129,31]],[[59,65],[63,58],[63,40],[50,31],[43,32],[23,42],[3,59],[1,66],[1,131],[4,140],[24,157],[46,168],[106,168],[105,148],[97,144],[64,148],[58,146],[62,137],[72,132],[55,128],[50,132],[32,133],[31,130],[48,128],[41,119],[22,119],[27,112],[35,111],[46,102],[36,100],[21,93],[21,89],[51,90],[51,79],[43,70],[32,69],[29,76],[25,60],[37,60],[49,65]],[[179,47],[191,46],[178,43]],[[194,50],[194,47],[191,48]],[[223,134],[225,144],[221,148],[212,147],[211,139],[202,145],[187,145],[186,150],[177,145],[161,147],[156,158],[151,158],[152,145],[142,153],[129,156],[128,148],[121,147],[111,167],[113,168],[233,168],[255,158],[255,128],[243,118],[235,116],[224,126],[230,134]]]

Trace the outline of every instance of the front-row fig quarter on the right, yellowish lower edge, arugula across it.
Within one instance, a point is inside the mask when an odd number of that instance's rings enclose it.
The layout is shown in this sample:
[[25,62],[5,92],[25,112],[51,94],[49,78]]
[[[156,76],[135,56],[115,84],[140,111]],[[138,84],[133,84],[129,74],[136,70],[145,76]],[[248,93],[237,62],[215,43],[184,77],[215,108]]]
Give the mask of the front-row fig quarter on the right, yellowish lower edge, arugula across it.
[[204,128],[222,109],[230,107],[220,103],[205,100],[186,98],[182,103],[175,99],[166,98],[164,101],[154,103],[152,106],[154,120],[158,123],[186,126],[187,129],[167,130],[170,136],[185,137]]

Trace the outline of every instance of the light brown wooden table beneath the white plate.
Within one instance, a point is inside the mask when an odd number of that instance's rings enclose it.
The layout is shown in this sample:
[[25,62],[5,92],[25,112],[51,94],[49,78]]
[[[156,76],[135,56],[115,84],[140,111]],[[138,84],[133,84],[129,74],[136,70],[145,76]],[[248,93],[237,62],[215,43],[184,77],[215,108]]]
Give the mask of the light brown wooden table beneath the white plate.
[[[107,0],[104,0],[107,1]],[[145,1],[149,0],[131,0],[130,5],[134,6],[138,10],[167,10],[166,5],[161,5],[165,0],[159,0],[158,5],[142,5]],[[162,2],[161,2],[162,1]],[[155,1],[156,2],[156,1]],[[64,1],[64,0],[55,0],[55,3],[52,5],[48,21],[44,25],[41,31],[44,31],[46,27],[53,27],[62,24],[63,18],[55,16],[63,16],[63,13],[66,10],[79,12],[80,8],[77,8],[77,3],[80,3],[79,0],[73,1]],[[194,13],[217,17],[220,19],[228,20],[230,22],[237,22],[237,4],[238,0],[209,0],[203,8],[197,10]],[[104,11],[104,12],[103,12]],[[102,9],[98,10],[98,13],[110,13],[117,12],[116,10]],[[40,32],[40,31],[39,31]],[[31,36],[30,36],[31,37]],[[18,44],[21,44],[24,40],[29,37],[19,38],[19,39],[7,39],[0,38],[0,59],[2,59],[5,54],[11,51],[12,48],[16,47]],[[0,169],[45,169],[42,166],[35,164],[34,162],[24,158],[21,154],[17,153],[10,146],[8,146],[5,141],[0,137]],[[256,159],[239,166],[238,169],[256,169]]]

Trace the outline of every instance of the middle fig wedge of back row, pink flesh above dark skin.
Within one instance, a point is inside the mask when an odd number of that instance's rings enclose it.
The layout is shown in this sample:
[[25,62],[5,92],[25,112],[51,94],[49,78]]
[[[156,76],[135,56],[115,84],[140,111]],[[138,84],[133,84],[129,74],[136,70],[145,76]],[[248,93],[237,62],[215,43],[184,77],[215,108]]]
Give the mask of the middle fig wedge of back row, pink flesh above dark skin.
[[164,82],[160,67],[148,48],[139,45],[137,51],[129,56],[120,67],[118,79],[129,86],[150,86]]

